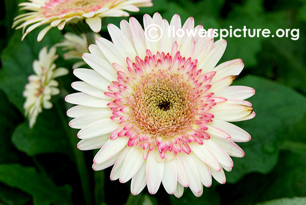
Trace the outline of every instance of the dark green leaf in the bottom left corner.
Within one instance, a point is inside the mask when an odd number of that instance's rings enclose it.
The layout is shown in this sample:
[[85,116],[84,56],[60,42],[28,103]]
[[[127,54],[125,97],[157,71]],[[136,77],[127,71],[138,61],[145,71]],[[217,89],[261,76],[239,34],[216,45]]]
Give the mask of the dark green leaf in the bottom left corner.
[[68,185],[57,187],[34,167],[1,164],[0,182],[32,195],[35,205],[71,204],[71,188]]

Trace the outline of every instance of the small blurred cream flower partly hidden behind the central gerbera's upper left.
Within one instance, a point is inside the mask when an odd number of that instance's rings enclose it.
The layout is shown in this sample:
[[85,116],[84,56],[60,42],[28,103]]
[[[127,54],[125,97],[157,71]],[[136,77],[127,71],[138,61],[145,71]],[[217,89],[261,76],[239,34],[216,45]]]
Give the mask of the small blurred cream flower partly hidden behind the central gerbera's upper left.
[[[99,34],[94,34],[95,38],[101,37]],[[78,68],[84,64],[82,55],[84,53],[88,53],[88,43],[85,34],[81,34],[80,36],[73,33],[66,33],[64,35],[64,40],[60,43],[55,44],[57,47],[63,47],[63,50],[68,50],[67,53],[64,54],[64,59],[81,59],[77,63],[72,65],[72,69]]]

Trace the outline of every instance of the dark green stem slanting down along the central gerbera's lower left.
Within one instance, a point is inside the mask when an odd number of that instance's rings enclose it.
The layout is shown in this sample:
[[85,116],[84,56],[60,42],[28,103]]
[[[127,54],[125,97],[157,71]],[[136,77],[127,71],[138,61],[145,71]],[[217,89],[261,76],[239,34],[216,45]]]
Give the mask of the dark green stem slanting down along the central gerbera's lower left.
[[85,163],[85,157],[82,151],[80,151],[77,148],[77,144],[78,144],[78,138],[77,138],[77,132],[74,129],[71,129],[68,126],[68,120],[67,117],[63,114],[63,110],[61,108],[61,106],[58,104],[58,102],[55,103],[55,107],[60,115],[60,119],[62,121],[62,125],[66,131],[67,136],[69,137],[69,141],[71,143],[72,146],[72,150],[74,153],[74,158],[75,158],[75,164],[77,166],[80,178],[81,178],[81,184],[82,184],[82,189],[83,189],[83,194],[84,194],[84,198],[86,201],[87,205],[91,205],[92,204],[92,198],[91,198],[91,187],[90,187],[90,183],[89,183],[89,173],[87,170],[87,165]]

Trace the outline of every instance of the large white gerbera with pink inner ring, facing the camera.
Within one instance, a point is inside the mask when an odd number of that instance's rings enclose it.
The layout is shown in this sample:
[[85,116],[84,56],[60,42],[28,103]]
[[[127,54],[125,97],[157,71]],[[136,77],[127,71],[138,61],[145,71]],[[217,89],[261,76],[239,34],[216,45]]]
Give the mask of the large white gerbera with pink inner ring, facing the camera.
[[[72,83],[80,92],[66,96],[75,106],[67,111],[69,125],[81,129],[81,150],[100,148],[93,169],[114,165],[111,180],[132,178],[131,192],[147,185],[155,194],[162,183],[181,197],[183,187],[200,196],[213,176],[225,183],[230,156],[243,157],[235,142],[250,135],[229,121],[255,116],[244,99],[254,94],[245,86],[230,86],[243,69],[240,59],[218,65],[225,40],[206,37],[168,37],[169,23],[156,13],[144,15],[144,27],[157,24],[164,34],[151,42],[135,18],[122,20],[120,29],[108,25],[112,42],[90,45],[84,61],[92,69],[75,69],[81,79]],[[174,15],[170,25],[181,29]],[[193,18],[183,30],[194,28]],[[211,35],[213,36],[213,35]]]

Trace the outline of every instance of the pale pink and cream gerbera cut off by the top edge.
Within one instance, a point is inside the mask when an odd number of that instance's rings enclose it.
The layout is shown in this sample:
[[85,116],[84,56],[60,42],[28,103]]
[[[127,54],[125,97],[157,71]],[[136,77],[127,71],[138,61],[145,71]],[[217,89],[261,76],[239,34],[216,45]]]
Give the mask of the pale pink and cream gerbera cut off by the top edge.
[[50,24],[39,33],[37,40],[52,28],[64,29],[66,23],[76,23],[85,19],[94,32],[101,30],[101,18],[107,16],[129,16],[123,11],[138,12],[138,7],[152,6],[151,0],[29,0],[20,3],[21,10],[31,12],[17,16],[13,28],[23,30],[31,25],[23,34],[21,40],[35,28],[43,24]]

